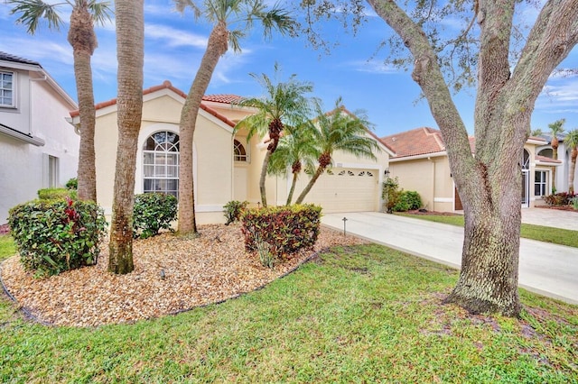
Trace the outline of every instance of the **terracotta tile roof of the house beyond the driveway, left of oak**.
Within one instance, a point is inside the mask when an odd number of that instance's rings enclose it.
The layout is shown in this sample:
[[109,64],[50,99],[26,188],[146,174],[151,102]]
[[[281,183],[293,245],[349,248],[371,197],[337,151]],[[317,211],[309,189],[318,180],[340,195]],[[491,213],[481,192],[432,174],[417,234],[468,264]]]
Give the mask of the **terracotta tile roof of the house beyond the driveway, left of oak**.
[[445,151],[442,133],[429,127],[382,137],[381,142],[396,152],[396,158]]

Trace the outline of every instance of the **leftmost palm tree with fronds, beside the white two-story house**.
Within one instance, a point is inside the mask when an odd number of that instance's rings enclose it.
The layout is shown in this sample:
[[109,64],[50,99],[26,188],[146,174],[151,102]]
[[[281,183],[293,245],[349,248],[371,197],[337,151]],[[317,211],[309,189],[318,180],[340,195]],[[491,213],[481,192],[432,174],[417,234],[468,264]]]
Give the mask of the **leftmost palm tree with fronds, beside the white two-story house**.
[[78,197],[81,200],[97,201],[97,176],[94,154],[94,126],[96,119],[94,93],[92,88],[92,68],[90,57],[98,46],[93,23],[104,24],[110,20],[112,10],[106,1],[75,0],[48,4],[42,0],[7,0],[14,5],[11,14],[20,14],[16,23],[28,27],[34,34],[41,19],[46,19],[49,29],[60,30],[59,5],[70,5],[70,29],[68,41],[74,56],[74,77],[79,98],[80,145],[78,169]]

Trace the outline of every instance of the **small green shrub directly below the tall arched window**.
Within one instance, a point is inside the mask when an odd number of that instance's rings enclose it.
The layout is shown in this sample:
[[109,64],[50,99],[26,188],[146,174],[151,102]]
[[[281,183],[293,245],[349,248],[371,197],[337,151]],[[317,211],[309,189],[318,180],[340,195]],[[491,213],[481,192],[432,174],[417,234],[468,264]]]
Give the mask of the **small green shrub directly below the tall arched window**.
[[163,193],[144,193],[135,196],[133,236],[146,239],[161,229],[173,231],[171,223],[177,218],[177,198]]

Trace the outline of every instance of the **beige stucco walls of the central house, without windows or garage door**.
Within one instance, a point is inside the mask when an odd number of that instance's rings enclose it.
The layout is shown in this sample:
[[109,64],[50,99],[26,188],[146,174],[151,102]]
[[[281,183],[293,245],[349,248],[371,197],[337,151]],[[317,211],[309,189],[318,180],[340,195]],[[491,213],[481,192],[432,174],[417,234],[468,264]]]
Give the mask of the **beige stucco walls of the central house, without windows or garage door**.
[[[154,92],[144,93],[143,120],[136,156],[135,194],[144,192],[143,149],[145,142],[153,133],[163,131],[179,133],[179,119],[183,103],[184,95],[172,88],[170,83],[163,84],[163,87],[154,87]],[[251,113],[253,113],[252,110],[247,108],[203,101],[193,142],[195,214],[198,224],[224,223],[223,206],[231,200],[248,201],[252,206],[256,206],[261,201],[259,178],[266,154],[266,143],[256,136],[247,142],[247,132],[244,131],[233,133],[235,123]],[[113,203],[117,135],[117,105],[115,103],[101,105],[97,110],[95,135],[97,194],[98,204],[105,209],[108,217],[112,212]],[[235,140],[245,147],[246,161],[235,160]],[[376,141],[378,142],[377,139]],[[391,153],[380,142],[379,145],[383,151],[376,153],[378,160],[357,159],[351,155],[336,153],[333,164],[335,169],[359,169],[356,175],[362,170],[372,170],[371,175],[375,180],[372,185],[375,185],[375,188],[369,197],[372,200],[371,210],[380,209],[379,186],[383,181],[384,170],[387,169]],[[289,170],[287,176],[290,176]],[[367,173],[364,173],[364,176],[367,176]],[[306,181],[308,176],[303,174],[302,178]],[[268,204],[284,205],[289,187],[290,180],[287,178],[267,177]],[[301,189],[297,189],[295,197],[300,192]],[[331,194],[331,198],[334,199],[335,196]],[[311,202],[323,206],[323,196],[317,194],[316,200]],[[333,204],[333,206],[339,209],[340,204]]]

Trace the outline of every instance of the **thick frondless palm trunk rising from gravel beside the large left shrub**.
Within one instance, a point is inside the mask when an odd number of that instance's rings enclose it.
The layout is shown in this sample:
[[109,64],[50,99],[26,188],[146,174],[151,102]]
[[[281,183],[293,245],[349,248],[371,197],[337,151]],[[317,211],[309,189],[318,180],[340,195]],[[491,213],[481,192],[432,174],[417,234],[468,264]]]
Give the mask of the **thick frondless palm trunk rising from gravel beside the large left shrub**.
[[108,270],[125,274],[133,263],[133,207],[138,133],[143,114],[144,0],[116,0],[117,168]]

